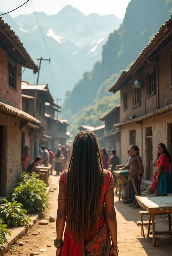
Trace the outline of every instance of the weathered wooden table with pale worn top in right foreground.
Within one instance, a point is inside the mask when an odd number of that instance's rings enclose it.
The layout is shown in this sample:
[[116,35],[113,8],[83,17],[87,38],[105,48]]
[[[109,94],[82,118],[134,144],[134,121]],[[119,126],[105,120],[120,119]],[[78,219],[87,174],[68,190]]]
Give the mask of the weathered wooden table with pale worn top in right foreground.
[[[153,246],[156,246],[155,235],[172,235],[171,216],[172,213],[172,196],[135,196],[135,199],[146,211],[150,213],[148,234],[153,235]],[[155,231],[155,215],[168,215],[168,231]],[[152,232],[150,231],[150,223],[152,220]]]

